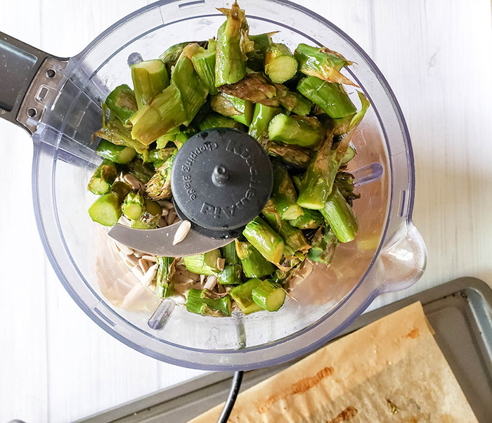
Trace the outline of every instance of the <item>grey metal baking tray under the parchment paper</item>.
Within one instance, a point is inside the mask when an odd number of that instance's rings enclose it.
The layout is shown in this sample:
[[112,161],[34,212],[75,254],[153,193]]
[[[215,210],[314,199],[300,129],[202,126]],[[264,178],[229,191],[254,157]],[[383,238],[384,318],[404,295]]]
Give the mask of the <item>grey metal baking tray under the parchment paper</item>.
[[[476,278],[460,278],[365,313],[347,330],[354,332],[389,313],[420,301],[436,331],[435,339],[480,423],[492,422],[492,289]],[[298,360],[300,360],[299,358]],[[295,360],[297,361],[297,360]],[[275,375],[294,361],[245,372],[241,391]],[[225,401],[231,373],[209,373],[139,398],[84,423],[185,423]]]

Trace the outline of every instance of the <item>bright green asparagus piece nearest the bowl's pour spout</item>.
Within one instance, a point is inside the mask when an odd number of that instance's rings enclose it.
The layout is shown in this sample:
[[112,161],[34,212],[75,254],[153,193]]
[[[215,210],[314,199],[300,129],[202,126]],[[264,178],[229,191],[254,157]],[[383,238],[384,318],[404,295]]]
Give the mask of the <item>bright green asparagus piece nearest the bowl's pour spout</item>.
[[357,219],[354,211],[336,186],[328,197],[325,207],[321,209],[321,214],[330,224],[330,228],[340,242],[354,240],[358,230]]

